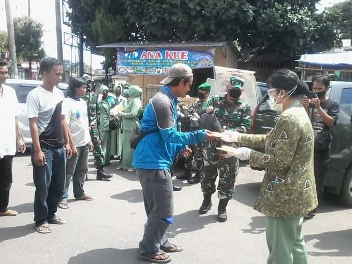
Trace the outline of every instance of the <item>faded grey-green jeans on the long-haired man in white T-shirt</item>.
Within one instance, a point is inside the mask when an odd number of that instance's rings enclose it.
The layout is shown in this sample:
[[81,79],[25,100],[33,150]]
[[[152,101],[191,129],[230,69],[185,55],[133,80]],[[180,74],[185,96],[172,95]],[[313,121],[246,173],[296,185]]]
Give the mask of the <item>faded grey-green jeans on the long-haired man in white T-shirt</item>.
[[89,144],[77,148],[77,156],[70,157],[66,162],[66,183],[62,199],[68,198],[69,183],[72,178],[73,196],[75,198],[85,195],[83,185],[88,173]]

